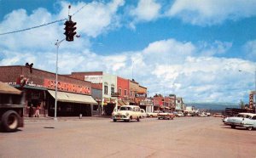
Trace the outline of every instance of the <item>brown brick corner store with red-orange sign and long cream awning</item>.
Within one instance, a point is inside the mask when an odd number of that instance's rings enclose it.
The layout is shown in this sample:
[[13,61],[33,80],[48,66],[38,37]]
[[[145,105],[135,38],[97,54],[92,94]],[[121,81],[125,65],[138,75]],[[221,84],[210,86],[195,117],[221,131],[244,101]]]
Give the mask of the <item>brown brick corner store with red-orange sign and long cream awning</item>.
[[[0,66],[0,81],[25,92],[25,116],[31,105],[40,106],[41,115],[54,116],[55,73],[21,65]],[[57,85],[57,116],[92,115],[93,104],[97,103],[91,97],[91,82],[58,75]]]

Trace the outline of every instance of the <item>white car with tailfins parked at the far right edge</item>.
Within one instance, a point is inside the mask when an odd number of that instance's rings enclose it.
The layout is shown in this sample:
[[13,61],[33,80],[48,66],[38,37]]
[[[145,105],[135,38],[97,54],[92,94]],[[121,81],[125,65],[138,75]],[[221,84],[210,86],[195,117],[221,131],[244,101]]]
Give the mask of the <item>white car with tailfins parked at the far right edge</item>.
[[[244,121],[245,118],[251,119],[253,116],[254,114],[251,113],[239,113],[237,116],[224,118],[223,122],[224,125],[228,125],[232,128],[243,127],[244,124],[242,124],[241,122]],[[247,124],[249,123],[247,122]],[[247,124],[245,126],[247,126]]]

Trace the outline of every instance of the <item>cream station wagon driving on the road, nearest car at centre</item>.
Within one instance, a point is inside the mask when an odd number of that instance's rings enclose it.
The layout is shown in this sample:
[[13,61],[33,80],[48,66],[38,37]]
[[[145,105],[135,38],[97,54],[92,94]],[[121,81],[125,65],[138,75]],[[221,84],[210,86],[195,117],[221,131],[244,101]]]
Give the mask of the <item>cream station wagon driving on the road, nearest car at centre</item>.
[[113,121],[140,121],[141,111],[140,107],[137,105],[123,105],[119,110],[113,111],[112,119]]

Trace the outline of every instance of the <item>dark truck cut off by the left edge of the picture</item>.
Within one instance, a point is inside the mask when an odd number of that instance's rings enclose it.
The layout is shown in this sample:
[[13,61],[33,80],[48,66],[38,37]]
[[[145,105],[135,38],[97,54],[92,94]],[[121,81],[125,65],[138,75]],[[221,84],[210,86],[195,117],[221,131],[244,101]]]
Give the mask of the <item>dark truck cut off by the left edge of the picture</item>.
[[15,87],[0,82],[0,130],[15,132],[24,127],[25,95]]

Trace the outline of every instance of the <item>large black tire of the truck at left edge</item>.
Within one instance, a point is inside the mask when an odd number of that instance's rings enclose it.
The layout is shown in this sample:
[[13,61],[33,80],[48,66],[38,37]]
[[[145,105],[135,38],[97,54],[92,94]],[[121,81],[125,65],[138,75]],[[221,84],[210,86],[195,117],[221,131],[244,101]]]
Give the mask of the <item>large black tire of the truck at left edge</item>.
[[2,127],[5,132],[15,132],[19,127],[20,116],[14,110],[5,112],[2,116]]

